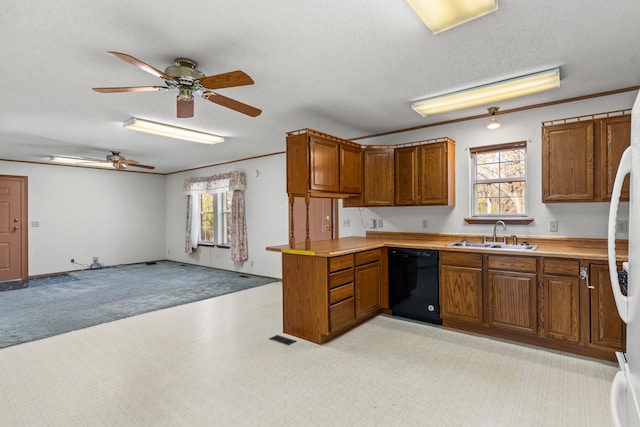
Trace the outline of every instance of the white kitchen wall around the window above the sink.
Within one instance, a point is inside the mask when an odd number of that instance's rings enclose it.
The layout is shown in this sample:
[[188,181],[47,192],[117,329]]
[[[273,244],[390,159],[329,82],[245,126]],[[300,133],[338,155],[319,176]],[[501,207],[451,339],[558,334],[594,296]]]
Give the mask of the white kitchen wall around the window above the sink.
[[[341,208],[340,235],[361,236],[370,219],[383,219],[380,231],[425,233],[490,234],[491,225],[470,225],[469,147],[527,140],[527,214],[535,221],[528,226],[509,226],[509,234],[519,236],[606,237],[609,203],[542,203],[542,131],[543,121],[575,117],[631,108],[636,92],[499,115],[502,126],[488,130],[487,118],[404,132],[376,139],[358,141],[363,144],[401,144],[448,136],[456,141],[456,205],[455,207],[378,207]],[[340,135],[336,135],[340,136]],[[623,203],[619,219],[628,219],[628,204]],[[343,226],[348,219],[350,227]],[[428,227],[423,228],[423,219]],[[549,221],[558,220],[558,232],[549,231]],[[626,235],[619,235],[626,238]]]

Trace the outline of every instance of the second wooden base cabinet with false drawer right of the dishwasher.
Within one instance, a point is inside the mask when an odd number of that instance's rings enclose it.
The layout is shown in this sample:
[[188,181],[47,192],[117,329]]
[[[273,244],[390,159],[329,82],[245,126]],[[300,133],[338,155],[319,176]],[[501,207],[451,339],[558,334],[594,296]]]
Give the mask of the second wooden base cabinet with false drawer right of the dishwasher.
[[536,335],[536,259],[490,255],[487,266],[489,327]]

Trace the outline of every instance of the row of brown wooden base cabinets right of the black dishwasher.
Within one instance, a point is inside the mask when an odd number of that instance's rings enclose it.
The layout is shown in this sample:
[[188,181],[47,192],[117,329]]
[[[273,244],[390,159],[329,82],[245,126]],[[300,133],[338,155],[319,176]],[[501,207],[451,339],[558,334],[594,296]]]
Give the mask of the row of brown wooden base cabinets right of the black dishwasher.
[[443,325],[591,357],[623,351],[608,265],[440,252]]

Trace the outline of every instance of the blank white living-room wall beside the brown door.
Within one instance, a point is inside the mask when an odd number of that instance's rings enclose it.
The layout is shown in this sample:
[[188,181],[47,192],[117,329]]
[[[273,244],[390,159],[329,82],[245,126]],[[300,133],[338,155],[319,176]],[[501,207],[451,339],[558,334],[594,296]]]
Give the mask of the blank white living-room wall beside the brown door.
[[164,176],[6,161],[0,174],[28,177],[29,276],[164,259]]

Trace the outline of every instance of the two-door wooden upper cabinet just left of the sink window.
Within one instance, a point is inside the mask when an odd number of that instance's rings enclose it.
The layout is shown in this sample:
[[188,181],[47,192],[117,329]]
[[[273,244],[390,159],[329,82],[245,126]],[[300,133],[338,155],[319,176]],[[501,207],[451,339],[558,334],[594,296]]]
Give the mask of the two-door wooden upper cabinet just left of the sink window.
[[395,150],[395,204],[455,205],[455,144],[446,141]]

